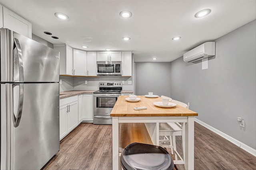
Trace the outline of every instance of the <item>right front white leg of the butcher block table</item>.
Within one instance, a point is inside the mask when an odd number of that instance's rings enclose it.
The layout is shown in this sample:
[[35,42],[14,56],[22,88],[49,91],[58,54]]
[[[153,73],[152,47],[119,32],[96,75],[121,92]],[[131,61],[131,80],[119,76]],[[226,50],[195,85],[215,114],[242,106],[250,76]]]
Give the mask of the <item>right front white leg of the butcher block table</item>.
[[188,117],[185,129],[185,169],[194,170],[194,117]]

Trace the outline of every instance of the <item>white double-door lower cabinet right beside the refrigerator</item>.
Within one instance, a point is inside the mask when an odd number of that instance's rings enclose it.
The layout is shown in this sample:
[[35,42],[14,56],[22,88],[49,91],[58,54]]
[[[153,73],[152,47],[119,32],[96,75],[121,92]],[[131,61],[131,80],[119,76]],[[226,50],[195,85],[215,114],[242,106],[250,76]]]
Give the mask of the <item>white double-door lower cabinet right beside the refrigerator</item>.
[[60,99],[60,140],[78,125],[78,96]]

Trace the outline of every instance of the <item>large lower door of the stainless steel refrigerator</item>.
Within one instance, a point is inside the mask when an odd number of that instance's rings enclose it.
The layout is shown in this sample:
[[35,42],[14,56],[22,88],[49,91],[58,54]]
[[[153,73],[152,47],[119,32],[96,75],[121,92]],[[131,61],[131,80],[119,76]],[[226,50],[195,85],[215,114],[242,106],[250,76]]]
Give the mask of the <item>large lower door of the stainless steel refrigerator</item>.
[[[7,113],[6,140],[1,132],[1,142],[7,142],[6,149],[1,148],[1,156],[6,154],[7,169],[41,169],[60,149],[59,84],[24,83],[22,114],[15,127],[14,117],[18,117],[20,108],[20,84],[1,84],[1,92],[6,92],[3,107]],[[1,95],[1,108],[2,99]]]

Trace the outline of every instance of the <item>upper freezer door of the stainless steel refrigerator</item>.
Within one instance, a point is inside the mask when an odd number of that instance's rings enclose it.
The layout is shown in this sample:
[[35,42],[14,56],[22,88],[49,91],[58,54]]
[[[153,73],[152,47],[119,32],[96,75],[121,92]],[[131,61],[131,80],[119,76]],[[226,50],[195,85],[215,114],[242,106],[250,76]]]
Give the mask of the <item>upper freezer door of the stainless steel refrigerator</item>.
[[59,82],[58,51],[6,28],[0,41],[0,82]]

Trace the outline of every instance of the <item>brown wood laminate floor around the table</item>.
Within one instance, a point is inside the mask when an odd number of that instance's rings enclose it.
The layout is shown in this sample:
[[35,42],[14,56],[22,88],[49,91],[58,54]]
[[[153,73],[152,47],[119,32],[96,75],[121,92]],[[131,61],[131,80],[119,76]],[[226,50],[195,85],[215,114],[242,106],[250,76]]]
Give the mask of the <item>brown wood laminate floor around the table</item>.
[[[202,125],[195,123],[194,134],[195,170],[256,170],[255,156]],[[112,125],[81,123],[62,139],[60,151],[43,170],[112,170]]]

